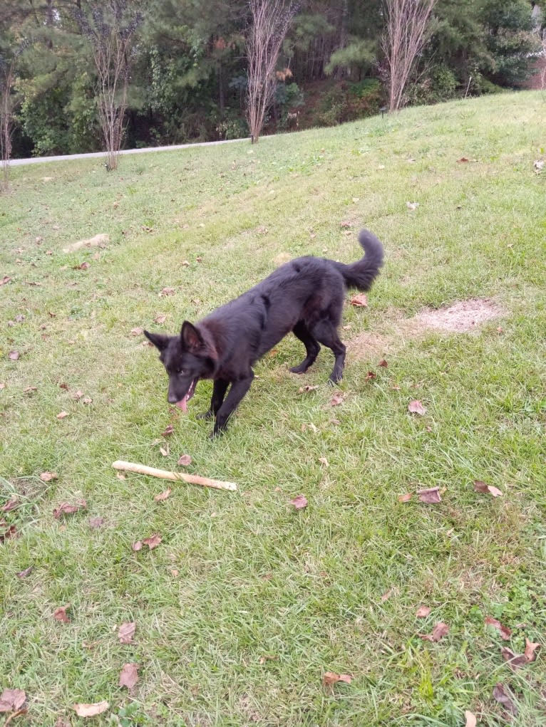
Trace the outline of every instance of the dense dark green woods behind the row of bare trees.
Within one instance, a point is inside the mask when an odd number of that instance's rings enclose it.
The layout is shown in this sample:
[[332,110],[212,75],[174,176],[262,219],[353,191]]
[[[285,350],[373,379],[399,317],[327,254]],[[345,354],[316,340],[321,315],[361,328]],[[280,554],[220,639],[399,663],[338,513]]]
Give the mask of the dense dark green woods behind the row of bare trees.
[[[397,105],[516,88],[541,46],[529,0],[303,0],[283,18],[264,132],[393,108],[389,22],[427,4]],[[2,156],[41,156],[249,135],[249,49],[272,0],[4,0]],[[7,6],[7,7],[6,7]],[[288,7],[288,3],[286,4]],[[413,9],[412,9],[413,8]],[[401,15],[400,15],[401,13]],[[391,46],[392,47],[392,46]],[[393,48],[393,47],[392,47]],[[400,49],[394,49],[400,60]],[[271,73],[261,79],[270,81]],[[253,132],[255,134],[256,132]],[[123,138],[122,138],[123,137]],[[6,145],[11,143],[11,148]],[[114,141],[112,141],[114,143]],[[114,144],[115,145],[115,144]],[[115,166],[115,159],[108,159]]]

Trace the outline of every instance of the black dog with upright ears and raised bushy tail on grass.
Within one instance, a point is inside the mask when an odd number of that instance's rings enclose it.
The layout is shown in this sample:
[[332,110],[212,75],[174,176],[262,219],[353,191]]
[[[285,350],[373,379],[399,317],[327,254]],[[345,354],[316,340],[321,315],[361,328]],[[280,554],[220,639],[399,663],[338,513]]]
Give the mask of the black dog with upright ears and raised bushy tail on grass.
[[169,374],[168,401],[187,411],[199,379],[213,379],[213,398],[203,416],[215,415],[213,434],[218,434],[250,389],[252,366],[290,331],[301,340],[307,353],[290,371],[303,374],[309,369],[322,343],[336,357],[330,379],[339,381],[345,346],[339,340],[337,327],[346,288],[370,289],[383,264],[383,246],[375,235],[361,230],[358,241],[365,257],[352,265],[320,257],[298,257],[240,297],[213,310],[197,325],[184,321],[179,336],[145,331],[161,352],[159,360]]

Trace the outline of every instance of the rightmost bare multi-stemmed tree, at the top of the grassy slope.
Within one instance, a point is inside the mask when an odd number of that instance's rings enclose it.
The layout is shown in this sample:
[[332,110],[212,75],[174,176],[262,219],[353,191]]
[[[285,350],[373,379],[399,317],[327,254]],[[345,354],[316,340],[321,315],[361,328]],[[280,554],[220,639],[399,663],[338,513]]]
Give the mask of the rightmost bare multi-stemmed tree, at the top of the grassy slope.
[[383,50],[387,62],[389,111],[404,104],[416,60],[427,39],[427,25],[437,0],[384,0],[386,26]]

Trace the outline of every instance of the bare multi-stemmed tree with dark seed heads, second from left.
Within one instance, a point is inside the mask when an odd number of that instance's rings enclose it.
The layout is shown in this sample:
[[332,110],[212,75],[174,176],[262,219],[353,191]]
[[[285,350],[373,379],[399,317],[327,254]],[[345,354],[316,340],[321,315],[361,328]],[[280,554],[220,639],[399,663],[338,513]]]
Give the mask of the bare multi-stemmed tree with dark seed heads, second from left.
[[117,169],[135,33],[142,14],[130,0],[87,0],[87,12],[79,10],[76,17],[82,33],[90,41],[95,61],[98,115],[107,169]]

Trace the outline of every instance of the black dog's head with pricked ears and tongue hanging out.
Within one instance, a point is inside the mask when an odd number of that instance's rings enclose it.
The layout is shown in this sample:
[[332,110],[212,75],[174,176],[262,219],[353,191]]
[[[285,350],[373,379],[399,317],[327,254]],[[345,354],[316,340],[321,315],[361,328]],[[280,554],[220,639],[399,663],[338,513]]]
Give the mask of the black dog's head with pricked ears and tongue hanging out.
[[205,338],[189,321],[183,322],[179,336],[148,331],[144,331],[144,335],[159,350],[159,361],[169,375],[167,401],[187,411],[197,382],[209,378],[214,370]]

